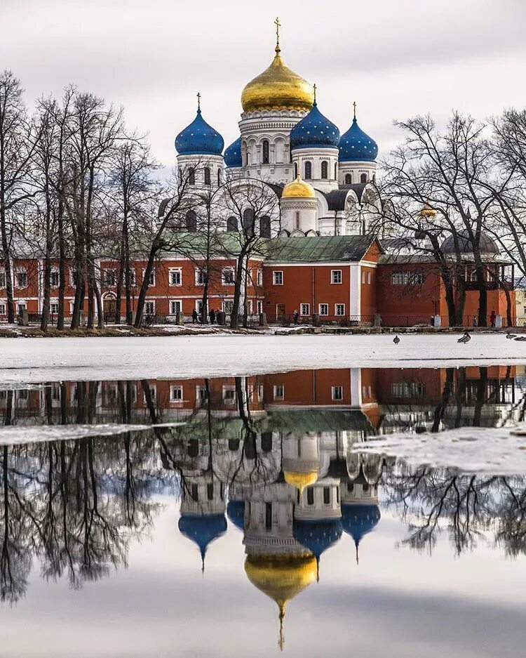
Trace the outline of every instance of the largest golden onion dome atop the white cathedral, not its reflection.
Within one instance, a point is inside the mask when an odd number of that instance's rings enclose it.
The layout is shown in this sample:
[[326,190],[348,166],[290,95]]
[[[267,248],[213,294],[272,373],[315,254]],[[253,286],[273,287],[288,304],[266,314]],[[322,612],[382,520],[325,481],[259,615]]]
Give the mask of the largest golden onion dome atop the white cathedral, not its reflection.
[[254,110],[311,110],[314,89],[285,66],[279,46],[267,70],[251,80],[241,93],[243,112]]

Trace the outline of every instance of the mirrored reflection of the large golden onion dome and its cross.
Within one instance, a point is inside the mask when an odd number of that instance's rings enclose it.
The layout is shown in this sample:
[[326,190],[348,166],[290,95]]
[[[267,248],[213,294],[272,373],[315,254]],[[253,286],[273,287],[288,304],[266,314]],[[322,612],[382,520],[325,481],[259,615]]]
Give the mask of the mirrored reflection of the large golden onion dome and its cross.
[[245,573],[252,585],[278,604],[279,645],[283,649],[285,606],[316,580],[316,558],[310,552],[287,557],[249,555],[245,560]]

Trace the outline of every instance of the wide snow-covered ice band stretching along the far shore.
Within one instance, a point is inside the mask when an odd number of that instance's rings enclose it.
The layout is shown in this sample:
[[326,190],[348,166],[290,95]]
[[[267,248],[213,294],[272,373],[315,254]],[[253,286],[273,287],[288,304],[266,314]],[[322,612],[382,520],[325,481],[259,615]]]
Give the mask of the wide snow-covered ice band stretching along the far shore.
[[[189,379],[311,368],[526,364],[504,334],[0,338],[0,383]],[[5,388],[5,386],[4,386]]]

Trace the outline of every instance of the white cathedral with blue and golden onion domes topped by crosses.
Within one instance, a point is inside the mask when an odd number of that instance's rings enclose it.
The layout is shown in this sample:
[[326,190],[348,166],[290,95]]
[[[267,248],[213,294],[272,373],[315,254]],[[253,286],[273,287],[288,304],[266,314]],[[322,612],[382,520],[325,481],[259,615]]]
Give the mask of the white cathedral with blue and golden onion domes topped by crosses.
[[[175,139],[180,180],[189,188],[219,192],[227,181],[267,185],[276,216],[259,226],[263,237],[364,235],[372,214],[382,213],[375,186],[378,146],[358,126],[356,103],[344,133],[321,112],[312,86],[285,65],[276,19],[270,66],[241,93],[239,137],[224,140],[201,112]],[[236,230],[224,218],[225,230]]]

